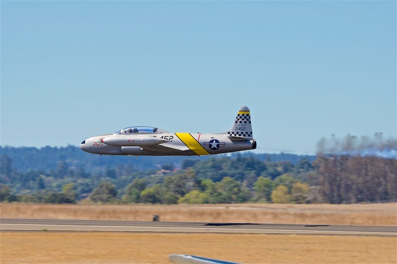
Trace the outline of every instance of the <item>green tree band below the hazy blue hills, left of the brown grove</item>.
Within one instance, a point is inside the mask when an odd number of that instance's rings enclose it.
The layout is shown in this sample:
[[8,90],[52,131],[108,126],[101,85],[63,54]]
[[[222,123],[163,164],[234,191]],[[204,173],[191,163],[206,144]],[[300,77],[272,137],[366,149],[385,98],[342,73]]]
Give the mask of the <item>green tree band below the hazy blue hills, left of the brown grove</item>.
[[89,199],[101,203],[152,204],[270,202],[271,198],[259,194],[267,180],[271,181],[268,187],[272,191],[279,183],[299,182],[299,177],[294,179],[291,175],[298,173],[302,179],[306,178],[304,174],[310,169],[308,159],[294,165],[290,161],[264,162],[237,155],[236,158],[185,159],[179,169],[173,163],[152,170],[119,164],[102,172],[86,172],[61,161],[57,169],[47,172],[22,172],[13,168],[12,159],[2,155],[0,200],[76,203]]

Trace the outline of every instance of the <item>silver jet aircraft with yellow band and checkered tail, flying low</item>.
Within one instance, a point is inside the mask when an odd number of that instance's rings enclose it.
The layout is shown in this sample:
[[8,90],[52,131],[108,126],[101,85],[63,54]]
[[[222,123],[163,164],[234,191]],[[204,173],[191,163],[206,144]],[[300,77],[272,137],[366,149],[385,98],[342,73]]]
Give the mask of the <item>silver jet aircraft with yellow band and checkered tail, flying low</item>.
[[232,128],[224,133],[169,133],[157,127],[132,126],[80,144],[80,149],[93,154],[133,156],[201,156],[256,148],[247,106],[240,107]]

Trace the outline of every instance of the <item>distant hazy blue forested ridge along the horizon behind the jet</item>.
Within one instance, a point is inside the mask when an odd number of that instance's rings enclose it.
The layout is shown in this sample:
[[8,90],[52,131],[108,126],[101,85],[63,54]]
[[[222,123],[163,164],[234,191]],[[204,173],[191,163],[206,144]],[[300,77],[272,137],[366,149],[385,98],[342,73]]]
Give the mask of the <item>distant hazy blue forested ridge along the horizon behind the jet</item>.
[[[192,160],[205,160],[211,156],[201,157],[161,157],[161,156],[108,156],[108,155],[92,155],[80,150],[75,146],[67,147],[44,147],[41,149],[34,147],[1,147],[1,155],[6,155],[12,160],[14,168],[26,172],[28,170],[44,170],[57,169],[60,162],[66,162],[69,167],[78,168],[82,167],[87,172],[100,171],[106,167],[116,168],[120,165],[125,167],[133,167],[134,169],[146,170],[156,169],[159,165],[172,163],[176,167],[180,167],[185,159]],[[280,154],[252,154],[250,152],[233,153],[231,156],[240,155],[241,157],[254,156],[259,160],[271,161],[285,161],[289,160],[296,164],[300,159],[307,158],[313,161],[316,156],[311,155],[294,155],[289,153]],[[226,157],[227,155],[217,155],[216,157]],[[230,156],[230,155],[228,155]]]

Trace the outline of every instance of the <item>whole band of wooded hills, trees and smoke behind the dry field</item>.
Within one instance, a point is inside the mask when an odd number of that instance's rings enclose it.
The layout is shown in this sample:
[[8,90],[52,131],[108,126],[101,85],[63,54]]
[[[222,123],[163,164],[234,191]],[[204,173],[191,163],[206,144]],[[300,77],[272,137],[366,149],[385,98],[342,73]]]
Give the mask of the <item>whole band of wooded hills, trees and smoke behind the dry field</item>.
[[[41,150],[30,150],[38,155],[21,161],[24,158],[23,155],[18,158],[21,149],[7,147],[1,149],[7,152],[2,152],[0,159],[0,201],[118,204],[397,201],[397,159],[393,157],[396,146],[379,140],[376,144],[373,140],[367,142],[371,145],[364,146],[350,135],[342,141],[322,139],[317,156],[292,155],[291,160],[250,153],[199,158],[111,157],[115,158],[112,160],[92,155],[80,158],[82,152],[69,146],[45,148],[46,163]],[[389,153],[388,157],[381,155],[385,152]],[[128,158],[128,162],[123,158]],[[97,160],[85,163],[89,159]],[[32,165],[41,161],[39,166]],[[24,164],[22,169],[19,164]]]

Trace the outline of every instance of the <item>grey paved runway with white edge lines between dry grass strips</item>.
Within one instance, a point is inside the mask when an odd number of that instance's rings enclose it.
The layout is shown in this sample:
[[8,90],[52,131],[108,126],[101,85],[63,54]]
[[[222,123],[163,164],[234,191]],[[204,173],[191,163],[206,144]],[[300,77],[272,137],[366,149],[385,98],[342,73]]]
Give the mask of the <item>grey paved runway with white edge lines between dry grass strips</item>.
[[397,236],[396,226],[0,219],[1,231],[248,233]]

